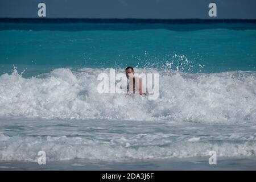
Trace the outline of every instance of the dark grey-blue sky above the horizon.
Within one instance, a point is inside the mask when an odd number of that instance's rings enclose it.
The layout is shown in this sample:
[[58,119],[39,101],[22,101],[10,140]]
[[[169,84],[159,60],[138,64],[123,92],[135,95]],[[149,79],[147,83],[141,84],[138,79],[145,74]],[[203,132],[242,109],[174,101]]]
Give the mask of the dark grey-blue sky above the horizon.
[[38,3],[46,3],[47,18],[210,18],[256,19],[256,0],[0,0],[0,17],[36,18]]

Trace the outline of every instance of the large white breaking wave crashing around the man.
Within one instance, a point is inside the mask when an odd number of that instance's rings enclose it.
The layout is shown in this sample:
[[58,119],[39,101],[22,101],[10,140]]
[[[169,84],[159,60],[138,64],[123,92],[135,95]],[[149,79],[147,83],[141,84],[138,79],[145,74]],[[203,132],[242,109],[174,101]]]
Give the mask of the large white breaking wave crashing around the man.
[[[126,119],[205,123],[256,123],[255,72],[158,72],[159,98],[97,92],[97,76],[109,69],[55,69],[24,78],[0,76],[0,116],[60,119]],[[117,72],[123,72],[119,70]]]

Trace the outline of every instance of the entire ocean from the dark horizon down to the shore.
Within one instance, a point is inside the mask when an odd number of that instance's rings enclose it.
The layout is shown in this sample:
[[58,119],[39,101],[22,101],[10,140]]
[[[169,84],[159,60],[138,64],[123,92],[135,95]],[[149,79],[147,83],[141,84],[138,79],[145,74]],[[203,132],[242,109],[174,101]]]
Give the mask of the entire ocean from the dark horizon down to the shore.
[[[0,170],[256,169],[255,22],[102,21],[0,22]],[[156,100],[97,92],[127,66]]]

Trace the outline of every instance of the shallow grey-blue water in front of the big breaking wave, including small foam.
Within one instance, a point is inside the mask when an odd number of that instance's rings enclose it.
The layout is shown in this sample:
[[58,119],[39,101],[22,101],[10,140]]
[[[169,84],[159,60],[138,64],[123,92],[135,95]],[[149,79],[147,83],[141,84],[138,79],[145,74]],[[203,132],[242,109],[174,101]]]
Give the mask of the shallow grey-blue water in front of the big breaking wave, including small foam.
[[[1,118],[0,169],[255,170],[255,125]],[[18,135],[17,135],[18,133]],[[37,163],[46,152],[46,165]],[[216,151],[217,165],[210,165]]]

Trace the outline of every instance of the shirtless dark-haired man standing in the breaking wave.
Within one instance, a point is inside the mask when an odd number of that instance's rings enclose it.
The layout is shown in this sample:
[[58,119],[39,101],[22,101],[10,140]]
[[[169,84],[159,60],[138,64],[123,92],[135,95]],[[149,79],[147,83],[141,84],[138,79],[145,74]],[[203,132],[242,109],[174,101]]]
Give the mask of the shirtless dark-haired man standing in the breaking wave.
[[[127,67],[125,69],[125,75],[129,80],[129,84],[127,84],[127,93],[135,93],[135,91],[138,90],[140,95],[145,94],[142,86],[142,79],[134,76],[133,67]],[[129,88],[129,85],[133,88]]]

